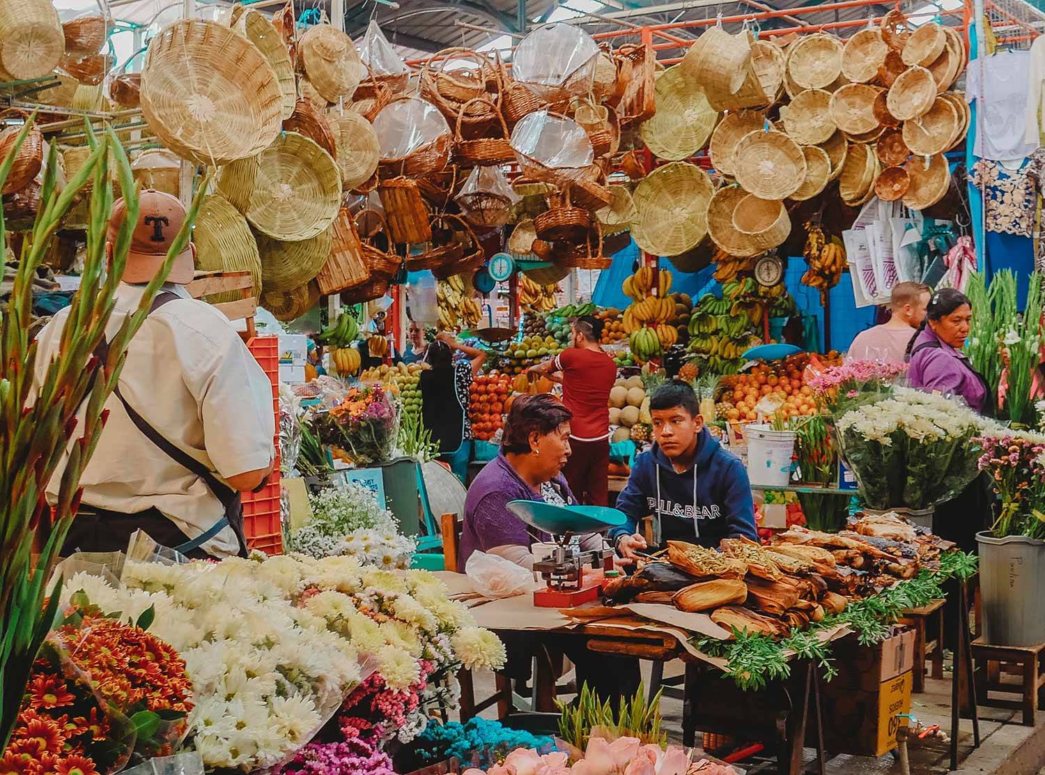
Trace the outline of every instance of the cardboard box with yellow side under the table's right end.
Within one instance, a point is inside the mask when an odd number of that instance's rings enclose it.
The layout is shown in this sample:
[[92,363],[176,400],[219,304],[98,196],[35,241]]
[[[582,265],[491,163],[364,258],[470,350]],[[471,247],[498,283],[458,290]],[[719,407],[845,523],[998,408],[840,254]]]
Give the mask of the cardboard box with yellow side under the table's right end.
[[[911,709],[914,631],[898,630],[875,646],[837,644],[838,675],[821,684],[823,738],[832,753],[881,756],[897,747],[898,719]],[[807,737],[807,739],[809,739]]]

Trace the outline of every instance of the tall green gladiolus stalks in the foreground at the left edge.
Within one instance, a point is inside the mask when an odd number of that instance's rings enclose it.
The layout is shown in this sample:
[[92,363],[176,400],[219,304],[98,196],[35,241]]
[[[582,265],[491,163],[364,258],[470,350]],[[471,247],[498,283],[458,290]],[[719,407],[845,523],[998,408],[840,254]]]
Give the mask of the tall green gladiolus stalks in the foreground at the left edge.
[[[29,133],[26,120],[14,146],[0,163],[0,185]],[[10,737],[29,670],[44,637],[55,621],[61,580],[44,588],[79,504],[80,473],[91,459],[104,426],[104,403],[116,386],[131,338],[185,249],[205,186],[170,247],[163,269],[148,284],[138,310],[110,338],[101,363],[94,350],[114,309],[131,237],[138,222],[138,191],[126,154],[112,130],[96,136],[87,126],[91,155],[65,187],[56,180],[57,152],[51,144],[31,231],[24,235],[7,312],[0,316],[0,750]],[[112,246],[107,266],[107,232],[113,206],[110,158],[115,162],[126,219]],[[72,297],[56,357],[34,381],[37,343],[29,339],[32,280],[51,248],[63,216],[91,185],[87,249],[79,290]],[[0,255],[6,230],[0,213]],[[83,411],[77,412],[83,407]],[[46,489],[65,459],[57,503],[48,508]],[[34,553],[39,552],[39,553]],[[45,602],[46,601],[46,602]]]

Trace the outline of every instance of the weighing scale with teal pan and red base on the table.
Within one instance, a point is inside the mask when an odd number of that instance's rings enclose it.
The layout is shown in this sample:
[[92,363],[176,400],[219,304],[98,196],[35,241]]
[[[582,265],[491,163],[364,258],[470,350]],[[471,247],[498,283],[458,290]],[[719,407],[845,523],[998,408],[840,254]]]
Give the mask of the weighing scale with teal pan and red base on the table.
[[552,555],[533,565],[547,587],[533,593],[540,608],[573,608],[599,597],[603,571],[613,567],[613,550],[582,551],[575,538],[625,524],[623,511],[605,506],[555,506],[543,501],[510,501],[508,510],[552,537]]

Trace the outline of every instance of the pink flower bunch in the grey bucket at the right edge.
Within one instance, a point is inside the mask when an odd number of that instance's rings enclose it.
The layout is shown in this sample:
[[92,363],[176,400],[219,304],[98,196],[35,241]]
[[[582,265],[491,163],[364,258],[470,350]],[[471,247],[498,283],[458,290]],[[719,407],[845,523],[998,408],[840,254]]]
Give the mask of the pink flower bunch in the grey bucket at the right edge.
[[1045,435],[999,428],[976,442],[983,450],[979,468],[1001,498],[991,531],[999,539],[1045,539]]

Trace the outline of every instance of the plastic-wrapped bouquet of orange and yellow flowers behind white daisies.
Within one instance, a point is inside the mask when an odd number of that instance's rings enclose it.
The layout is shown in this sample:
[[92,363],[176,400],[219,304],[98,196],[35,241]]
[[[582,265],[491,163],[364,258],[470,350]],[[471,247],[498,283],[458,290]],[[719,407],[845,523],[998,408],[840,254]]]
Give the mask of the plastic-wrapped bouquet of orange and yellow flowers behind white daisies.
[[399,433],[395,397],[380,384],[350,388],[314,421],[320,440],[345,450],[359,465],[389,460]]

